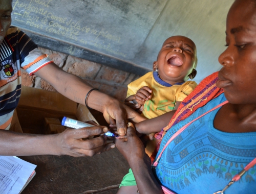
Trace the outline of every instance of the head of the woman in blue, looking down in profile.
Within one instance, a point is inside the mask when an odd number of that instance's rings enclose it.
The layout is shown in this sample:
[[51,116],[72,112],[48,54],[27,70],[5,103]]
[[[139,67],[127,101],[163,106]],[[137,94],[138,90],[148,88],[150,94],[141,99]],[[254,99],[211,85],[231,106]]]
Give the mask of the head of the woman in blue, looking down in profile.
[[227,15],[226,50],[217,86],[232,104],[256,103],[256,2],[238,0]]

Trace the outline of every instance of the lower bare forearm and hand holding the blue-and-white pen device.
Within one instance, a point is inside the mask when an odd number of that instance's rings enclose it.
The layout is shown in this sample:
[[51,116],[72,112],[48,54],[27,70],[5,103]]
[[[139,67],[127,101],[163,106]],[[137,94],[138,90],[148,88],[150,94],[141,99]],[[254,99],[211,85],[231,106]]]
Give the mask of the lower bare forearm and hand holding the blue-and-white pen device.
[[0,155],[31,156],[31,155],[70,155],[93,156],[114,148],[113,143],[106,143],[105,135],[83,140],[108,131],[103,126],[81,129],[66,129],[53,135],[16,133],[0,130]]

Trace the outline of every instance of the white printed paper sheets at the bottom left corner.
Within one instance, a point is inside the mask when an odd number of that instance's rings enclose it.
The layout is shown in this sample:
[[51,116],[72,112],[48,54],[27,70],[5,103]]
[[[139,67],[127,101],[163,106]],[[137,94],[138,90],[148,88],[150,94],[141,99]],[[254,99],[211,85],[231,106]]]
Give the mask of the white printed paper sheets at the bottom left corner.
[[15,156],[0,156],[0,193],[19,193],[35,167]]

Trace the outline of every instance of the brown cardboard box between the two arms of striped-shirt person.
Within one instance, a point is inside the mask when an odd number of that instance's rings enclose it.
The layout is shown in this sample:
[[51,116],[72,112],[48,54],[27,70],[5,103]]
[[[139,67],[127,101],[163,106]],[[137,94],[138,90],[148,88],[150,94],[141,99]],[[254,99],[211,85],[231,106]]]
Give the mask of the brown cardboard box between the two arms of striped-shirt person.
[[84,105],[79,105],[58,92],[22,86],[17,115],[24,133],[45,134],[45,118],[63,116],[81,120],[97,120]]

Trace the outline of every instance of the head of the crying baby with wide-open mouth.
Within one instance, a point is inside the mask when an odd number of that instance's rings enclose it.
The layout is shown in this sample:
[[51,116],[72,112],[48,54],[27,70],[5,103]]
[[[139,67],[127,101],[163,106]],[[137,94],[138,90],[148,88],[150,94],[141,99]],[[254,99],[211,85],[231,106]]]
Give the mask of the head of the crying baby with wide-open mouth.
[[153,69],[167,83],[187,81],[196,60],[196,45],[187,37],[172,36],[166,39]]

